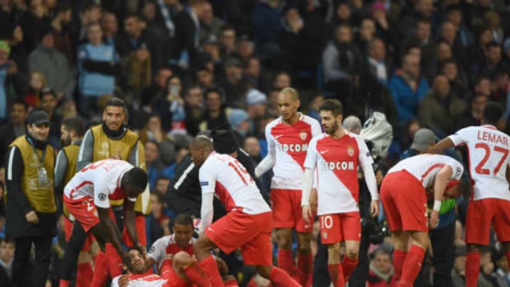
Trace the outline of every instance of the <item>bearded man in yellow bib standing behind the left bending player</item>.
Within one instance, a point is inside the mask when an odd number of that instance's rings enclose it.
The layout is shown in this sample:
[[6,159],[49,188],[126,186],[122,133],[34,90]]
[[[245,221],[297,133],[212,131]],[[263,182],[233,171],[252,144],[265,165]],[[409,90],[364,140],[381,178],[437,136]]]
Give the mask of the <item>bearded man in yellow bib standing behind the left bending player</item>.
[[[79,153],[77,171],[83,169],[87,164],[91,162],[97,162],[101,159],[123,159],[134,167],[140,167],[146,169],[145,165],[145,153],[142,142],[140,142],[138,136],[132,132],[128,127],[125,126],[127,121],[127,108],[122,99],[112,98],[106,103],[106,107],[103,111],[103,123],[95,125],[86,131],[83,141],[81,142]],[[148,188],[144,194],[140,194],[137,197],[135,204],[136,212],[136,225],[137,234],[142,246],[147,244],[147,238],[145,236],[145,215],[150,213],[150,204]],[[123,213],[123,200],[112,200],[111,206],[117,223],[122,223],[120,219]],[[123,230],[123,226],[119,224],[119,230]],[[125,231],[125,230],[124,230]],[[124,232],[123,240],[128,246],[132,246],[129,236]],[[108,252],[114,252],[111,244],[106,244]],[[107,253],[108,253],[107,252]],[[96,257],[96,266],[101,267],[101,271],[108,270],[109,258],[106,254],[99,252]],[[112,265],[112,264],[110,264]],[[111,277],[119,275],[122,272],[122,266],[115,266],[111,268],[108,273]],[[94,282],[104,285],[107,280],[108,273],[106,272],[95,272]]]

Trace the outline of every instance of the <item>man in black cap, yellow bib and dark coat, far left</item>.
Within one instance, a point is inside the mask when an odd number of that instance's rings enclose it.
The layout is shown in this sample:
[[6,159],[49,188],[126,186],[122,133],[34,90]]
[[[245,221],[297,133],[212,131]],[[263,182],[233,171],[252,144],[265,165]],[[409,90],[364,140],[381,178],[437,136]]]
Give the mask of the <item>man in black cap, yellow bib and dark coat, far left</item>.
[[[6,154],[6,235],[16,242],[14,286],[45,286],[52,237],[57,233],[57,204],[53,193],[55,152],[48,144],[50,118],[35,110],[28,116],[26,135],[16,138]],[[30,249],[35,245],[33,274]]]

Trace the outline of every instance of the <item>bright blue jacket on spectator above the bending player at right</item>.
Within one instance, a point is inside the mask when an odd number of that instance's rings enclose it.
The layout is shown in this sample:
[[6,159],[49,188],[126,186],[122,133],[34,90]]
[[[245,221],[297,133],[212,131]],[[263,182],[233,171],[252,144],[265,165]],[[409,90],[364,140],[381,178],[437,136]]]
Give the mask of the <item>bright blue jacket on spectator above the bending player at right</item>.
[[388,89],[397,105],[399,120],[407,121],[416,117],[418,103],[429,91],[429,83],[426,79],[420,78],[416,91],[413,91],[401,75],[395,74],[388,83]]

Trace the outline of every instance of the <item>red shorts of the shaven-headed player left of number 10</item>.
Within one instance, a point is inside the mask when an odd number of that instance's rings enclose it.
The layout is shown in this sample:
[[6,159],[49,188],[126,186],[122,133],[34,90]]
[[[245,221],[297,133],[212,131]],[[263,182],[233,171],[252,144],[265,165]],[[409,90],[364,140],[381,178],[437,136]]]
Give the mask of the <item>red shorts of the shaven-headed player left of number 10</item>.
[[[271,188],[273,203],[273,228],[295,228],[297,232],[312,232],[313,224],[306,224],[302,219],[301,193],[294,189]],[[312,215],[310,222],[314,222]]]

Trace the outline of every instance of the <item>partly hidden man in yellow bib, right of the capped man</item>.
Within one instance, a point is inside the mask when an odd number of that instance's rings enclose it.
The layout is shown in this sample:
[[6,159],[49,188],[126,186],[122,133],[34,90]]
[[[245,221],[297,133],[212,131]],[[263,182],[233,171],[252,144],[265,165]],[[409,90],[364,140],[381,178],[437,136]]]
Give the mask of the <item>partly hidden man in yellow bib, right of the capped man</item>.
[[[55,194],[62,204],[62,192],[64,186],[72,179],[76,174],[76,167],[78,162],[78,152],[81,140],[85,133],[85,126],[81,118],[70,117],[62,120],[60,126],[60,139],[64,147],[57,154],[57,162],[55,162]],[[70,216],[69,210],[65,206],[61,206],[62,213],[64,214],[64,234],[66,241],[69,241],[72,233],[72,225],[74,218]],[[77,271],[77,286],[89,286],[92,280],[91,261],[89,257],[89,251],[91,244],[94,240],[92,235],[87,238],[84,248],[81,249],[78,259],[78,271]]]

